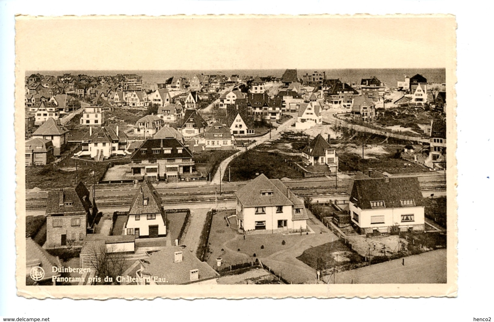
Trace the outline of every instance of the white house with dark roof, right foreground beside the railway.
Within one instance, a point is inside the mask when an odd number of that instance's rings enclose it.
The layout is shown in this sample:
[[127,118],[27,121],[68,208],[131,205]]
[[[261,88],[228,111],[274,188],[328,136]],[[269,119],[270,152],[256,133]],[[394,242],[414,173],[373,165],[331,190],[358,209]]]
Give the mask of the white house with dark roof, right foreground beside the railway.
[[360,234],[424,230],[424,204],[416,177],[355,180],[350,194],[351,224]]

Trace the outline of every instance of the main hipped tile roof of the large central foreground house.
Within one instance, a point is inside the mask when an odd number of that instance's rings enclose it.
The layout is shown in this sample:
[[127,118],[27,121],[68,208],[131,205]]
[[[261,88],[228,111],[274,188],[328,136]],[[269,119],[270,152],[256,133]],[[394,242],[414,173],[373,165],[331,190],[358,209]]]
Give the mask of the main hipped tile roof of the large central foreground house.
[[[272,191],[271,195],[261,195],[263,191]],[[278,187],[264,174],[259,175],[247,185],[235,192],[235,196],[244,207],[289,205],[293,204]]]

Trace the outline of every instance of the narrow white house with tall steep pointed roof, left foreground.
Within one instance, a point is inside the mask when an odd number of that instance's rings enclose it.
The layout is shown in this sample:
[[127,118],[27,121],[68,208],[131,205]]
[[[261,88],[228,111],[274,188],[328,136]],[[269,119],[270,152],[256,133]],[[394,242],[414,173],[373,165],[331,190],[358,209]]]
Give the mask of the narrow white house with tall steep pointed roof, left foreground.
[[130,203],[122,235],[133,235],[136,239],[165,237],[166,213],[161,204],[160,194],[144,179]]

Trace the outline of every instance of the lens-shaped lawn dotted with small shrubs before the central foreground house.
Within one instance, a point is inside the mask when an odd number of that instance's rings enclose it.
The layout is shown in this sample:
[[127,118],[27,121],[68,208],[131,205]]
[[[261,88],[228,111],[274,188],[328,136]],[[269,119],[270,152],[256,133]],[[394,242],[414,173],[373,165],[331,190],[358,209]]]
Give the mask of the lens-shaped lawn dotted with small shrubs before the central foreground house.
[[[246,239],[242,236],[235,241],[230,241],[226,246],[232,250],[240,248],[240,252],[247,254],[248,256],[267,257],[277,251],[292,247],[299,243],[303,239],[307,238],[305,233],[303,235],[281,235],[281,234],[261,234],[261,235],[247,235]],[[285,245],[282,244],[285,241]],[[264,246],[264,248],[261,248]]]

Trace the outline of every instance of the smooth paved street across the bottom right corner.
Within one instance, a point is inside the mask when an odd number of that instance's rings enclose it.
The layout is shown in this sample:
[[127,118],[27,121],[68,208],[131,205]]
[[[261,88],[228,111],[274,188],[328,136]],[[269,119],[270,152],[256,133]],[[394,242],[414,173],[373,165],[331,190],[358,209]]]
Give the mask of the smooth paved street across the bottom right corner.
[[[446,249],[394,259],[388,262],[336,273],[335,283],[446,283]],[[328,281],[329,279],[329,281]],[[333,283],[333,277],[324,281]]]

